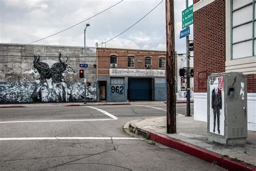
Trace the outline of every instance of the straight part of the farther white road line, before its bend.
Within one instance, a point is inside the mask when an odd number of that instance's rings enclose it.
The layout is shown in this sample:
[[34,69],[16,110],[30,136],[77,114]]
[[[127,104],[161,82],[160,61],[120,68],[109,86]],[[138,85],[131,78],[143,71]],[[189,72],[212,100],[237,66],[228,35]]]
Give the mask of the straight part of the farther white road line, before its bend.
[[115,119],[73,119],[73,120],[24,120],[24,121],[2,121],[0,124],[5,123],[24,123],[24,122],[77,122],[77,121],[105,121]]

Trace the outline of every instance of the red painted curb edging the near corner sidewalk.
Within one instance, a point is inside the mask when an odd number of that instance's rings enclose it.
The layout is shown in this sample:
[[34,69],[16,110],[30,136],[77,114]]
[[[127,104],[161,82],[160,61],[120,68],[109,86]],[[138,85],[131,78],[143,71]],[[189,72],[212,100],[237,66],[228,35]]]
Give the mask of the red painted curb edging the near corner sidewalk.
[[199,159],[205,160],[207,162],[213,163],[217,162],[217,165],[228,170],[256,170],[256,166],[248,165],[245,162],[233,161],[231,158],[223,157],[218,153],[208,151],[205,148],[194,146],[185,141],[181,141],[170,136],[160,134],[154,131],[149,131],[144,128],[137,127],[139,131],[149,133],[150,139],[161,143],[165,146],[178,149],[181,152],[196,156]]

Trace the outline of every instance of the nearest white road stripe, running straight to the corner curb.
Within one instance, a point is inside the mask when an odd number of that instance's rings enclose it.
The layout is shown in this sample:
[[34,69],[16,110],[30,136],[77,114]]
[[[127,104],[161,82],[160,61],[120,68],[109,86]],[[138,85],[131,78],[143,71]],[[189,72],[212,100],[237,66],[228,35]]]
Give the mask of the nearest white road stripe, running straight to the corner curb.
[[130,137],[19,137],[19,138],[0,138],[0,141],[10,140],[143,140]]

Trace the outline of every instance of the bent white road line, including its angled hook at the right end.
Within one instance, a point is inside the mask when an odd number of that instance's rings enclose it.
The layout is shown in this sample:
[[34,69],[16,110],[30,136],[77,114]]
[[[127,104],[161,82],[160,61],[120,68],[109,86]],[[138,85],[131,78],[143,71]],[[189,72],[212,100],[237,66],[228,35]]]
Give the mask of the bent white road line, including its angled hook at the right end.
[[99,108],[96,108],[96,107],[91,107],[91,106],[86,106],[86,107],[89,107],[89,108],[93,108],[95,110],[98,110],[102,113],[104,113],[105,115],[109,116],[110,118],[112,119],[71,119],[71,120],[24,120],[24,121],[2,121],[0,122],[0,124],[6,124],[6,123],[25,123],[25,122],[77,122],[77,121],[105,121],[105,120],[117,120],[118,118],[115,117],[114,115],[106,112],[106,111],[103,111],[103,110],[100,110]]

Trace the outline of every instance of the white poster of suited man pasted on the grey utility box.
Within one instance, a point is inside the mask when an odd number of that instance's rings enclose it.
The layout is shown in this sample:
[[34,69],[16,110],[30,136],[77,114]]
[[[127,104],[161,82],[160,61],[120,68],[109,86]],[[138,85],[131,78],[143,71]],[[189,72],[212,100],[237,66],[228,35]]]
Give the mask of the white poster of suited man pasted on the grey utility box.
[[210,80],[210,132],[224,135],[224,81],[223,77]]

